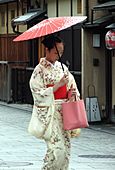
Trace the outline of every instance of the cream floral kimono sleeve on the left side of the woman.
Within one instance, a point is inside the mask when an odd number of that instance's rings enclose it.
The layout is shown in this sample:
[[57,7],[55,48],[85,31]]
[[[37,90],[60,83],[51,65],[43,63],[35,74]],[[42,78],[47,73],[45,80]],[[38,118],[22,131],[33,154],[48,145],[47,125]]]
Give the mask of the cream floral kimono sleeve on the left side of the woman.
[[43,70],[39,65],[36,66],[30,78],[30,89],[35,106],[49,107],[54,103],[53,87],[45,87]]

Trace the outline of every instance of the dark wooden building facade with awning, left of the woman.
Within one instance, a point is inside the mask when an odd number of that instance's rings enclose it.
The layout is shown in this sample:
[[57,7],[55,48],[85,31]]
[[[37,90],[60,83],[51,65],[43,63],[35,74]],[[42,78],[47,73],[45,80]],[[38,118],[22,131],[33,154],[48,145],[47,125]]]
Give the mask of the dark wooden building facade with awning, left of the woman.
[[28,82],[43,50],[40,40],[13,39],[46,17],[45,0],[0,0],[0,100],[32,103]]

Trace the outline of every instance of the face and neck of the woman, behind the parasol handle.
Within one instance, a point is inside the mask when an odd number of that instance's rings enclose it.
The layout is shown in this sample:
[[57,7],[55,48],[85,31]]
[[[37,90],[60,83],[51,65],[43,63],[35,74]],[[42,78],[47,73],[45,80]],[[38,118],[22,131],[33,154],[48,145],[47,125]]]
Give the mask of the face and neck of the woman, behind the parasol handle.
[[[64,52],[64,45],[63,43],[56,43],[56,46],[57,46],[59,55],[61,57]],[[46,48],[46,59],[52,64],[54,64],[57,60],[59,60],[56,47],[53,47],[50,51]]]

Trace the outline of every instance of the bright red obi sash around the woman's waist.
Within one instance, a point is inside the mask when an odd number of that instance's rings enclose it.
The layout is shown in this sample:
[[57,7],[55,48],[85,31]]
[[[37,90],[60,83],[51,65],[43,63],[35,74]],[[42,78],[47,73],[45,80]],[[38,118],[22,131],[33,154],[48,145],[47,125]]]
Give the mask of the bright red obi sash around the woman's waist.
[[[48,84],[47,87],[53,87],[54,84]],[[67,98],[67,86],[64,85],[60,88],[58,88],[55,92],[54,92],[54,98],[55,99],[66,99]]]

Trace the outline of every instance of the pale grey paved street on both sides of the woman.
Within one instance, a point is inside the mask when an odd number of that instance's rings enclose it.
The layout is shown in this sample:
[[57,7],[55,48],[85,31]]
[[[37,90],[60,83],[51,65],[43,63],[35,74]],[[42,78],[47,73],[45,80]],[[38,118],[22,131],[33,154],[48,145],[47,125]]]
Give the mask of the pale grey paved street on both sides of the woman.
[[[27,132],[31,111],[0,102],[0,170],[41,170],[46,145]],[[71,142],[70,170],[115,170],[115,124],[90,125]]]

